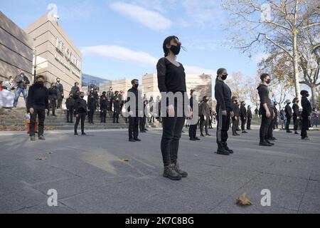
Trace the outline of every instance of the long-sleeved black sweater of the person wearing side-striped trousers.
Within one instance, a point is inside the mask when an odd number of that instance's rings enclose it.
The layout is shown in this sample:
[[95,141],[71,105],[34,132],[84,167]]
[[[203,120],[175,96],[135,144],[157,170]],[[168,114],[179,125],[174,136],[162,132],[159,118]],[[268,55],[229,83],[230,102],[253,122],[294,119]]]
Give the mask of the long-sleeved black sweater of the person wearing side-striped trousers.
[[215,80],[215,100],[217,100],[217,108],[233,111],[231,90],[227,84],[218,80],[218,78]]

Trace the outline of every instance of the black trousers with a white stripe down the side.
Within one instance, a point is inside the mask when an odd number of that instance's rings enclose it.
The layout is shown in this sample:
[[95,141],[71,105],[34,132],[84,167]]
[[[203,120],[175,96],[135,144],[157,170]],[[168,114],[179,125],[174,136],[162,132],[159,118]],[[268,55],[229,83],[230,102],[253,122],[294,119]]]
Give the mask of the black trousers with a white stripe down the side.
[[227,111],[227,115],[222,115],[222,110],[217,106],[217,144],[221,146],[223,142],[228,140],[228,130],[230,127],[230,111]]

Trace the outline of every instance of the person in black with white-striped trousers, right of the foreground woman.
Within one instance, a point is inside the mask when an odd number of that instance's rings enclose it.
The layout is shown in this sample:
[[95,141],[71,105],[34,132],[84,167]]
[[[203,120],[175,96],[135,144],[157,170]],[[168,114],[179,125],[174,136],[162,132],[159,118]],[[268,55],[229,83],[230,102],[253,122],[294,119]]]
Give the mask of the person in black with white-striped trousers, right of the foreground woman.
[[230,155],[233,150],[230,150],[227,145],[228,130],[230,125],[230,117],[234,117],[233,104],[231,102],[231,90],[225,79],[227,79],[228,73],[225,68],[219,68],[217,71],[217,78],[215,79],[215,100],[217,100],[216,112],[217,112],[217,144],[218,155]]

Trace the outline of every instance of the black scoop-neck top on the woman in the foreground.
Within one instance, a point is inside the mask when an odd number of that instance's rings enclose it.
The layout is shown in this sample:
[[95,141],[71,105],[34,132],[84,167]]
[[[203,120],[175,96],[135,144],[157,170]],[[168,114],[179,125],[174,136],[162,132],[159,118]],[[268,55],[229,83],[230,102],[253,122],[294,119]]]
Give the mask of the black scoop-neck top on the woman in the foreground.
[[186,92],[186,73],[181,63],[174,65],[167,58],[160,58],[156,64],[160,92]]

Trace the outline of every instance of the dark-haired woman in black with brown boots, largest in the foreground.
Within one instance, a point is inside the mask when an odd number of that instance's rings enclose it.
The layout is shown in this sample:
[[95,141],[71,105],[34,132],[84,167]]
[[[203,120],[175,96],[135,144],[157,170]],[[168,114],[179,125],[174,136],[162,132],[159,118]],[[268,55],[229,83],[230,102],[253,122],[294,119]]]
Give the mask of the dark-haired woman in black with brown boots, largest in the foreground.
[[[164,40],[164,58],[160,58],[157,65],[158,88],[162,95],[161,105],[166,105],[166,113],[162,116],[161,154],[164,162],[164,177],[170,180],[181,180],[188,173],[178,165],[178,148],[182,134],[186,113],[184,113],[184,95],[186,93],[186,73],[181,63],[176,61],[180,53],[181,42],[176,36],[169,36]],[[178,107],[178,99],[174,104],[166,103],[166,93],[182,93],[183,107]],[[194,104],[193,104],[194,105]],[[182,108],[183,115],[178,116],[178,108]],[[189,110],[191,107],[189,106]],[[179,110],[180,113],[180,110]]]

